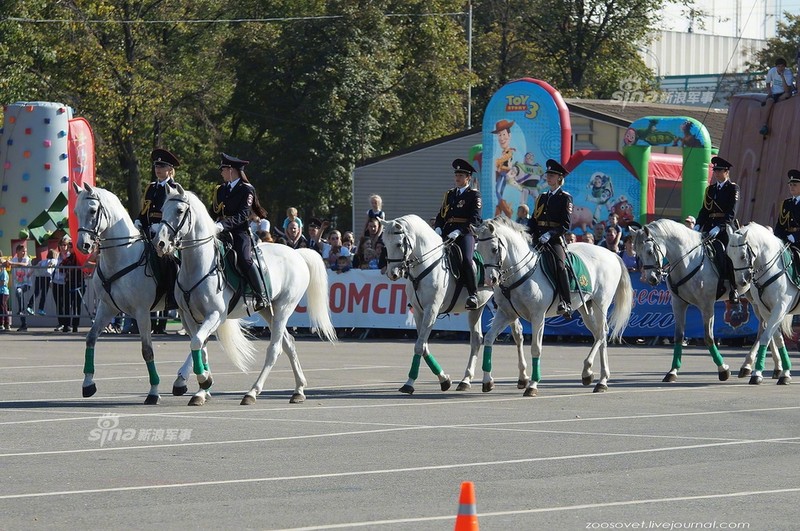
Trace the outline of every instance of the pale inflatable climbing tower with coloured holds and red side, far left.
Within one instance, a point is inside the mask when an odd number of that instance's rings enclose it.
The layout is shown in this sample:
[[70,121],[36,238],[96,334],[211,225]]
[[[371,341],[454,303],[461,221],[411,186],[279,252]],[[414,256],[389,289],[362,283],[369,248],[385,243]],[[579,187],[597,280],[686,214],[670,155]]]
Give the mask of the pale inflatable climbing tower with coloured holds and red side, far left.
[[0,252],[7,256],[20,242],[46,252],[52,239],[77,236],[70,182],[94,184],[92,131],[60,103],[18,102],[3,111]]

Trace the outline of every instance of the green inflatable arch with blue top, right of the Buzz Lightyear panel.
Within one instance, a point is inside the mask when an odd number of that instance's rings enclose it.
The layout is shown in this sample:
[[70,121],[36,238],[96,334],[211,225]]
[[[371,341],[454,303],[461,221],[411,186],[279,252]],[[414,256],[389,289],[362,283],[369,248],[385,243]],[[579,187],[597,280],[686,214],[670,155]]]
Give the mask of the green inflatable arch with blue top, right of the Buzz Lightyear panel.
[[682,148],[681,215],[697,214],[708,185],[708,164],[711,161],[711,138],[706,126],[694,118],[683,116],[645,116],[630,125],[623,142],[623,155],[641,181],[640,223],[647,222],[648,211],[654,207],[647,200],[651,186],[648,166],[653,146]]

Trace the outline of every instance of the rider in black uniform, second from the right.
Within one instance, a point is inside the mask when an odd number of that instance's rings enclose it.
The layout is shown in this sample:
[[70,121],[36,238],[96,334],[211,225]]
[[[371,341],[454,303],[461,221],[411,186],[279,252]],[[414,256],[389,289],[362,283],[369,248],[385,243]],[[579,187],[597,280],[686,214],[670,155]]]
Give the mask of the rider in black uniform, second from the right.
[[[703,198],[703,206],[697,215],[697,225],[695,230],[707,232],[709,237],[716,237],[722,243],[723,251],[728,246],[728,231],[726,227],[732,229],[738,227],[736,221],[736,206],[739,202],[739,185],[730,181],[730,169],[733,164],[722,157],[712,157],[714,183],[706,188]],[[739,302],[739,293],[736,291],[736,278],[734,276],[733,264],[730,258],[726,260],[727,276],[731,284],[728,299],[733,303]]]

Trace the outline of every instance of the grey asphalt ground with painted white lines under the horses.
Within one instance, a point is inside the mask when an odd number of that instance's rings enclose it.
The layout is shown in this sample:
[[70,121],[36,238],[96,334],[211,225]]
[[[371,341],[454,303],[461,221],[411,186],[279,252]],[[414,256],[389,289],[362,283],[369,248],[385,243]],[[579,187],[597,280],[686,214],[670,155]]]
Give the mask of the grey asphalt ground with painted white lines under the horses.
[[[503,344],[491,393],[443,393],[423,364],[407,396],[412,341],[301,339],[307,401],[288,403],[282,356],[247,407],[256,372],[212,342],[213,398],[188,407],[171,395],[188,348],[175,334],[156,338],[157,406],[143,405],[133,336],[101,338],[92,398],[82,335],[0,345],[2,530],[444,530],[462,481],[483,530],[800,528],[800,386],[720,382],[700,347],[665,384],[670,346],[612,346],[610,389],[593,394],[580,384],[588,345],[548,343],[539,396],[523,398]],[[465,343],[432,351],[463,374]],[[722,353],[735,373],[745,350]]]

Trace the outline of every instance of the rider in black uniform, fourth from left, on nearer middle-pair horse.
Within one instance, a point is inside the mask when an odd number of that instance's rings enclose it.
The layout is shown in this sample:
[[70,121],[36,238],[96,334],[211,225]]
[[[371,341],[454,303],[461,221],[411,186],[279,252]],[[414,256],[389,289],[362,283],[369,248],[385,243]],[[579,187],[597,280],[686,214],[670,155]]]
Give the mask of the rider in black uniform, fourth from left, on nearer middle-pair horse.
[[533,215],[528,220],[528,232],[539,243],[550,247],[555,259],[556,291],[558,292],[559,314],[565,318],[572,315],[569,281],[567,279],[567,242],[564,235],[572,223],[572,196],[563,188],[567,170],[553,159],[547,161],[544,174],[550,190],[536,198]]

